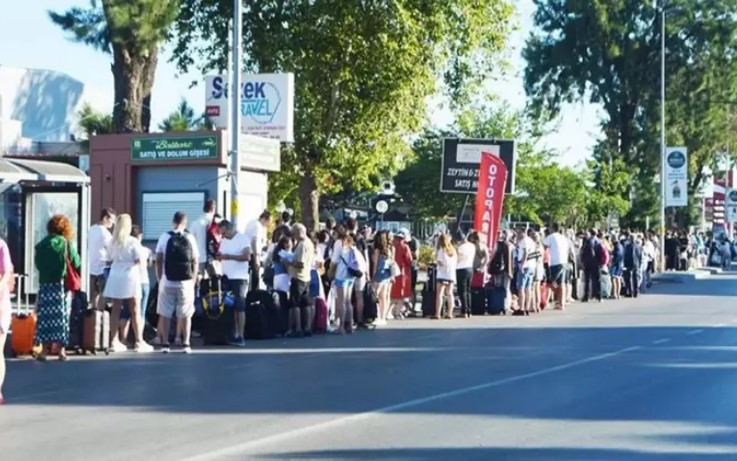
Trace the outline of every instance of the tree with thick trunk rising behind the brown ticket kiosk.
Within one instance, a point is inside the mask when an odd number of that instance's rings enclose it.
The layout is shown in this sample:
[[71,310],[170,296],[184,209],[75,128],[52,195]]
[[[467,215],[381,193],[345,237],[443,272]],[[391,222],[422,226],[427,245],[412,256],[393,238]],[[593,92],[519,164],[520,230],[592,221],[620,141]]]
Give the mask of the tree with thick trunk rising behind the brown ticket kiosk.
[[73,40],[112,55],[116,133],[148,131],[159,48],[178,9],[179,0],[90,0],[88,8],[49,12]]

